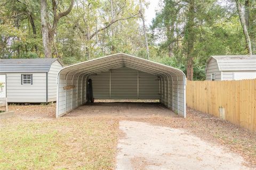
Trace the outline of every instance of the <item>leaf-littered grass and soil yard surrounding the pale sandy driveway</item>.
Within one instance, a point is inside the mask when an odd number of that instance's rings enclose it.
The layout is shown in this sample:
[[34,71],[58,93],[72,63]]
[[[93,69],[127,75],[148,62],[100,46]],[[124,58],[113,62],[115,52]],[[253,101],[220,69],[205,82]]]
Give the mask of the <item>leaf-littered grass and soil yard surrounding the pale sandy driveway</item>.
[[115,105],[79,107],[58,119],[51,118],[55,104],[9,106],[17,116],[0,119],[0,169],[114,169],[120,120],[186,129],[237,152],[256,168],[255,133],[190,108],[184,119],[157,106],[128,110]]

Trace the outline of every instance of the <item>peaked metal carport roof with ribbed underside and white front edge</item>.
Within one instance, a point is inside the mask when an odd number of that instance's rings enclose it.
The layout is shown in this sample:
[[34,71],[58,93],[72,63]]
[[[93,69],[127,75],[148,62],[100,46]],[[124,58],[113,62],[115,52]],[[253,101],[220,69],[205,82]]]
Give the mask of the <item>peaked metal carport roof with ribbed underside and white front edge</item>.
[[[186,76],[185,74],[174,67],[167,66],[164,64],[156,63],[153,61],[145,60],[143,58],[135,57],[132,55],[118,53],[113,55],[108,55],[100,58],[95,58],[93,60],[73,64],[70,66],[63,67],[58,74],[58,84],[60,79],[66,80],[66,85],[68,77],[74,80],[74,77],[84,77],[85,75],[92,75],[95,73],[105,72],[111,69],[118,69],[119,67],[129,67],[131,69],[139,70],[142,72],[150,73],[157,75],[162,81],[166,81],[169,88],[169,81],[172,83],[175,81],[178,86],[178,98],[179,98],[179,89],[182,89],[183,101],[178,101],[183,106],[182,115],[186,117]],[[59,86],[57,90],[59,90]],[[182,86],[182,88],[179,88]],[[169,93],[169,91],[168,91]],[[57,103],[58,103],[59,94],[57,93]],[[178,99],[179,100],[179,99]],[[166,101],[165,101],[166,102]],[[169,102],[169,101],[168,101]],[[57,105],[58,112],[58,105]],[[66,111],[65,111],[66,112]],[[179,105],[178,111],[179,113]]]

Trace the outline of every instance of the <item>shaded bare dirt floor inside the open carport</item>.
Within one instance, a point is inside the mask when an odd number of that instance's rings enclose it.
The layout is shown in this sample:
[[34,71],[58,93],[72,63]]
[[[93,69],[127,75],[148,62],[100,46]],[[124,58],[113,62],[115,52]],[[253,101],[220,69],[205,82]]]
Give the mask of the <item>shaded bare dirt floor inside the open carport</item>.
[[170,109],[158,103],[93,103],[85,104],[66,114],[70,117],[99,116],[112,118],[150,118],[156,116],[177,117]]

